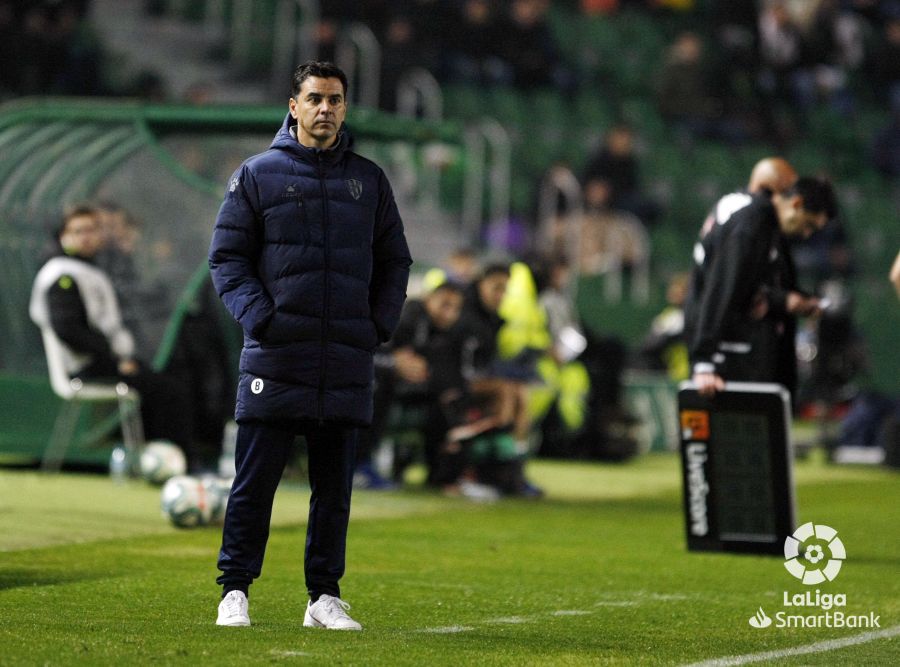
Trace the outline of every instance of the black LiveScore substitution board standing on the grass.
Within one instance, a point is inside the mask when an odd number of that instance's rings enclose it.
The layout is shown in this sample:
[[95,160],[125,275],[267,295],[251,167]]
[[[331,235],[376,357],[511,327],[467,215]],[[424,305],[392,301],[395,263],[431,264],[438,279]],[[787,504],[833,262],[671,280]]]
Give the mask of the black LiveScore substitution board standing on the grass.
[[790,395],[728,382],[712,398],[678,392],[688,549],[783,554],[795,527]]

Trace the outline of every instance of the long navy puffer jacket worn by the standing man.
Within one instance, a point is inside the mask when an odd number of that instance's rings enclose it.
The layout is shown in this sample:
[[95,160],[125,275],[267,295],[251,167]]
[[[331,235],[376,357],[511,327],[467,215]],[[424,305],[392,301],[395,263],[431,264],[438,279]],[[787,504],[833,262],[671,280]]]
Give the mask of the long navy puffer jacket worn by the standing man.
[[236,418],[372,420],[372,352],[397,325],[412,259],[384,172],[301,145],[290,115],[246,160],[216,218],[209,266],[244,329]]

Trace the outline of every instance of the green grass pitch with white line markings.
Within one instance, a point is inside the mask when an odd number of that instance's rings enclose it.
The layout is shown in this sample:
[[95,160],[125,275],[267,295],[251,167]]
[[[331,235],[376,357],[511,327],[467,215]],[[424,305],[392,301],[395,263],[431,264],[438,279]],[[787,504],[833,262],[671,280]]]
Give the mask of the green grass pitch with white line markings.
[[847,549],[819,588],[894,628],[877,638],[751,627],[805,588],[780,558],[686,551],[674,455],[530,475],[545,500],[356,492],[342,590],[365,630],[341,633],[302,627],[300,487],[276,497],[253,627],[219,628],[219,528],[169,527],[141,482],[0,472],[0,665],[678,665],[767,651],[754,664],[900,664],[896,473],[796,468],[799,520]]

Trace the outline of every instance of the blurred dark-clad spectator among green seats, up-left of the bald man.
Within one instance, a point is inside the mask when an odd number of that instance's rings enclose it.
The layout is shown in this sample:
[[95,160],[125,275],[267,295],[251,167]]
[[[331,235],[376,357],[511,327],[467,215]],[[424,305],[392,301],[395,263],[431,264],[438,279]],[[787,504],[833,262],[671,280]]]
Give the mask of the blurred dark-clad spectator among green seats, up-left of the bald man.
[[746,131],[726,114],[725,93],[701,38],[693,32],[681,33],[669,47],[660,70],[660,113],[685,142],[743,141]]

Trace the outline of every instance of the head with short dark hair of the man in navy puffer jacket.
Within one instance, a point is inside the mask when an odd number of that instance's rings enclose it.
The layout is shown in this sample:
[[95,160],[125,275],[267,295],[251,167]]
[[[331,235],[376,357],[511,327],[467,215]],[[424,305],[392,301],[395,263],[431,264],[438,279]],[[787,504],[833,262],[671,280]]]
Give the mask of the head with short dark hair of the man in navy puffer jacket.
[[309,148],[331,146],[347,115],[344,87],[336,77],[309,77],[288,106],[297,120],[297,140]]

